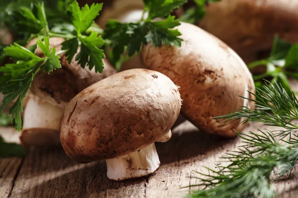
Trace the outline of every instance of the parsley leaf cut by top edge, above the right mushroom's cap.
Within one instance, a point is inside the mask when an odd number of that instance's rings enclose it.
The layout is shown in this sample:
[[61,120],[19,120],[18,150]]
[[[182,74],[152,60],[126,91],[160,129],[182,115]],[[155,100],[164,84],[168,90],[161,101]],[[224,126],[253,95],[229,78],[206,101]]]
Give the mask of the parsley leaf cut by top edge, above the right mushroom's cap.
[[144,0],[146,9],[149,10],[149,19],[164,17],[187,2],[187,0]]

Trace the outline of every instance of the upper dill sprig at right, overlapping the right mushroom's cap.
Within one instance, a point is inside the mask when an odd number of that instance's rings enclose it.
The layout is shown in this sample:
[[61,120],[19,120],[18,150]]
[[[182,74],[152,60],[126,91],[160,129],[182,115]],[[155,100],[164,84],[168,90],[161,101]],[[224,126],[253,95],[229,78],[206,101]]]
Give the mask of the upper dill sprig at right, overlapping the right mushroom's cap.
[[[262,122],[267,126],[282,127],[284,130],[279,131],[278,136],[283,138],[291,135],[292,130],[297,126],[292,123],[298,118],[298,100],[294,93],[290,96],[286,90],[275,82],[275,84],[266,81],[262,89],[256,88],[256,93],[252,93],[255,99],[248,99],[255,102],[255,109],[251,110],[246,106],[231,112],[228,115],[218,116],[215,119],[225,119],[225,122],[231,122],[244,118],[241,123],[248,121]],[[239,124],[241,124],[239,123]]]

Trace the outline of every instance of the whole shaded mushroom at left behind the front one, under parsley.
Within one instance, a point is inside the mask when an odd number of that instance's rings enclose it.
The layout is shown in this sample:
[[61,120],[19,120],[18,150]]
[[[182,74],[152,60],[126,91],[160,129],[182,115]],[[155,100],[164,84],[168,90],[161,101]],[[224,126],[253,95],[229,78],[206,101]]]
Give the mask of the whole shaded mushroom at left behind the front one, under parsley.
[[[50,38],[51,47],[56,51],[61,50],[63,42],[62,38]],[[35,44],[36,39],[26,47]],[[41,49],[36,49],[36,54],[41,55]],[[74,58],[69,64],[61,55],[60,61],[61,69],[50,74],[38,73],[31,85],[20,136],[23,145],[60,145],[59,121],[66,104],[84,88],[116,73],[106,59],[103,60],[105,68],[102,74],[90,71],[88,67],[83,69]]]

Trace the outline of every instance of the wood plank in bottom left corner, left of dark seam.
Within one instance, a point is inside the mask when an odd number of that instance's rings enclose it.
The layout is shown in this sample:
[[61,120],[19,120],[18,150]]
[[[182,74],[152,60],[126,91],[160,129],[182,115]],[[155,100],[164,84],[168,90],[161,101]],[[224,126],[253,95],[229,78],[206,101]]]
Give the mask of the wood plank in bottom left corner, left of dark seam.
[[[12,127],[0,127],[0,136],[6,142],[19,143],[19,132]],[[8,198],[14,186],[22,158],[10,157],[0,158],[0,198]]]

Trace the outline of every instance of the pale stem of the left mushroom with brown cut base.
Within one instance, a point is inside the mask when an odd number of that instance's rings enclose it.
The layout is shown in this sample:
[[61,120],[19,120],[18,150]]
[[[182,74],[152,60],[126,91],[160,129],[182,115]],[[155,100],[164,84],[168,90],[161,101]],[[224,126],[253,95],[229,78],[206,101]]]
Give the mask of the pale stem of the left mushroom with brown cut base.
[[24,110],[20,136],[23,145],[59,145],[59,122],[63,108],[32,95]]

